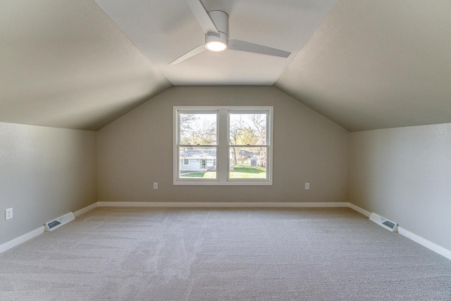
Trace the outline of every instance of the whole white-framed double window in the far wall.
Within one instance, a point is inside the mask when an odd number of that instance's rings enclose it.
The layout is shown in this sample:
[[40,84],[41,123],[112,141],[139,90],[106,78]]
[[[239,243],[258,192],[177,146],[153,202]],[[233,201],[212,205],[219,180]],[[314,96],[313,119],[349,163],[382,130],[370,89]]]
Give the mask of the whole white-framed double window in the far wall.
[[175,106],[174,185],[272,185],[272,106]]

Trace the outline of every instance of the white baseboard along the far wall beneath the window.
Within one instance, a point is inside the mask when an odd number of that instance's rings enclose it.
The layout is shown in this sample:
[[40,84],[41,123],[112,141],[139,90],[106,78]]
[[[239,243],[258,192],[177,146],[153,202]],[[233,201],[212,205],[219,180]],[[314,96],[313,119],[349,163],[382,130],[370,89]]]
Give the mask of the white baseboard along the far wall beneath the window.
[[314,208],[348,207],[347,202],[98,202],[99,207]]

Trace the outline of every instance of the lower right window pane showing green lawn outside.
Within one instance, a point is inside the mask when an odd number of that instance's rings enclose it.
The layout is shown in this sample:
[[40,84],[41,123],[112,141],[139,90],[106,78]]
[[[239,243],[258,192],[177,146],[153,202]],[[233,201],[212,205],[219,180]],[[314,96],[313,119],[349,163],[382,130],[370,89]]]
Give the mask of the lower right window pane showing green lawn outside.
[[230,179],[266,178],[267,147],[230,147]]

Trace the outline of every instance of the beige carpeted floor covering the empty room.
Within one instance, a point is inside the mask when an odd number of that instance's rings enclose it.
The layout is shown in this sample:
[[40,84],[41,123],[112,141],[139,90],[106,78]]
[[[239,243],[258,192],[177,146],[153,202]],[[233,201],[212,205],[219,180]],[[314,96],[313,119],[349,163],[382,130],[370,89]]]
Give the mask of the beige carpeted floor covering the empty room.
[[0,254],[0,300],[451,300],[451,261],[345,208],[97,208]]

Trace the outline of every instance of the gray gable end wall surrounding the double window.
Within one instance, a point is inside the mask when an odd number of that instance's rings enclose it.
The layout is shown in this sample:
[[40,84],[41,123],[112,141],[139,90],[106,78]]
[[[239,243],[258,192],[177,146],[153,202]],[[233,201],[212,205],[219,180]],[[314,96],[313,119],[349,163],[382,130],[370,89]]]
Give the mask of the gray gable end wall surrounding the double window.
[[[273,186],[174,186],[182,105],[274,106]],[[172,87],[97,137],[100,202],[347,202],[349,133],[276,87]]]

